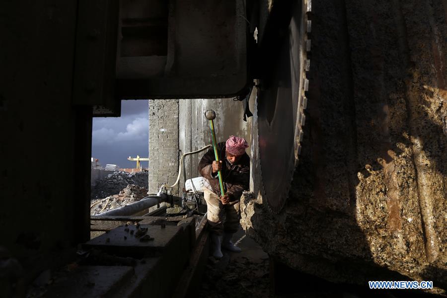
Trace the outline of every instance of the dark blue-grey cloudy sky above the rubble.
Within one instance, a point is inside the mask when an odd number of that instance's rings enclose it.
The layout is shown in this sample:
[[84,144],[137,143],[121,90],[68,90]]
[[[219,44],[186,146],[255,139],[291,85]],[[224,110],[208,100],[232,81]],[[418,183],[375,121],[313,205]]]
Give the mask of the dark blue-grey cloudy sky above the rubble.
[[[121,117],[93,118],[91,156],[102,166],[136,167],[127,157],[148,157],[148,112],[148,100],[122,100]],[[148,167],[148,161],[142,165]]]

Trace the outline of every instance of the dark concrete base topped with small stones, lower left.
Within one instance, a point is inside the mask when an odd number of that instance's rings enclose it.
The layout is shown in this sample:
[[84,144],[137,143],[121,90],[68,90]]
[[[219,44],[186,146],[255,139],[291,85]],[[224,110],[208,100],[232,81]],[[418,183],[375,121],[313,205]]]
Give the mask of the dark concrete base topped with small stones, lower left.
[[172,297],[195,244],[195,218],[176,218],[177,225],[154,217],[131,219],[141,221],[154,239],[136,238],[135,224],[112,228],[82,245],[89,254],[71,273],[55,278],[45,297]]

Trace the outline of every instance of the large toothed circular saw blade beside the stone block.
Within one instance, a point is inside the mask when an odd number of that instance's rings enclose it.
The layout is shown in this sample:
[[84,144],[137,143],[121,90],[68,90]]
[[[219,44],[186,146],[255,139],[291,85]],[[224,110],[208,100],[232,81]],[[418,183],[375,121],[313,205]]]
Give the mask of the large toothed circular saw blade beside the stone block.
[[[298,163],[304,124],[303,109],[307,88],[305,71],[309,61],[306,28],[306,1],[297,5],[282,40],[275,68],[258,91],[258,142],[264,201],[273,213],[286,203]],[[262,82],[261,82],[262,84]]]

